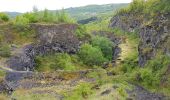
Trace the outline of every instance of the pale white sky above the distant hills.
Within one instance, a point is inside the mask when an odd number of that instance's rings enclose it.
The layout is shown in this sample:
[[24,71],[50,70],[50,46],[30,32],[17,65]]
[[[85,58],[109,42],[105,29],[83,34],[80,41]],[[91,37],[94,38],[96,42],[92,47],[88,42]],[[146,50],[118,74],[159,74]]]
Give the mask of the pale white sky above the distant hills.
[[0,0],[1,11],[28,12],[33,6],[39,10],[56,10],[91,4],[129,3],[132,0]]

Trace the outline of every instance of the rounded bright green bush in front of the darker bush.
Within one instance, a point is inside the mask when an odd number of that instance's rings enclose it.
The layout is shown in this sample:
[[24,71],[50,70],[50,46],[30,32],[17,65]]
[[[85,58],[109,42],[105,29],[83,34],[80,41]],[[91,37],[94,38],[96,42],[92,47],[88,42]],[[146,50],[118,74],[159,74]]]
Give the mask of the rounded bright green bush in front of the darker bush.
[[106,61],[100,48],[92,47],[92,45],[84,44],[78,53],[80,59],[87,65],[101,65]]

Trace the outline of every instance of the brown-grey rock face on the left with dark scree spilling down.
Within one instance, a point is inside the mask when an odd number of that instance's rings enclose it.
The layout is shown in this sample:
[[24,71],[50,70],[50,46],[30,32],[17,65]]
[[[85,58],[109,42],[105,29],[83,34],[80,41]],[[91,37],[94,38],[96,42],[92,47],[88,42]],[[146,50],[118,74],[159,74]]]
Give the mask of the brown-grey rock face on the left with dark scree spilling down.
[[31,28],[37,33],[37,42],[25,46],[19,54],[10,58],[8,66],[14,70],[32,71],[35,66],[35,56],[55,52],[74,54],[81,44],[74,35],[77,28],[75,24],[32,24]]

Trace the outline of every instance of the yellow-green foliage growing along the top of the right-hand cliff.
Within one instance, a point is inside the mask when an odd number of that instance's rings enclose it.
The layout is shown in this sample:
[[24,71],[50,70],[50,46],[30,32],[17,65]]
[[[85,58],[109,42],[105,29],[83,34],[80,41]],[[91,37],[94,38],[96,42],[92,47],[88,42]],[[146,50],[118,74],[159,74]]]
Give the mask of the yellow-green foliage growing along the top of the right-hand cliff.
[[133,0],[133,2],[126,8],[117,11],[117,14],[127,13],[166,13],[170,11],[169,0]]

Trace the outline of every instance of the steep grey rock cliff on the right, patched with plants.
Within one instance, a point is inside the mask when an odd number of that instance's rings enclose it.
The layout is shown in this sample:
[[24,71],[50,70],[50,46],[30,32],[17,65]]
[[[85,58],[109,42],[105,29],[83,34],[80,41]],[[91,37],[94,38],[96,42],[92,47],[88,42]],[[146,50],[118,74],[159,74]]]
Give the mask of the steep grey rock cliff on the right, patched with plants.
[[123,14],[111,19],[110,27],[120,28],[127,32],[138,31],[139,65],[144,66],[148,60],[154,58],[158,51],[170,55],[170,13],[157,14],[150,21],[144,15]]

